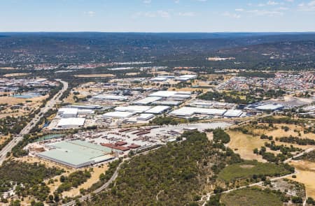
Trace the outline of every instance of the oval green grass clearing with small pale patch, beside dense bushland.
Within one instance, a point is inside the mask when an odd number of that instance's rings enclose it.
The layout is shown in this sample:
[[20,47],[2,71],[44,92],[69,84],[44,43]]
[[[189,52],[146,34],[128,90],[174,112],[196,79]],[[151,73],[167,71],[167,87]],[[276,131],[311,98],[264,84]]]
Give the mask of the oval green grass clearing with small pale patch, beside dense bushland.
[[243,163],[228,165],[218,174],[218,177],[226,182],[230,182],[236,179],[253,177],[253,175],[279,176],[286,174],[290,174],[290,172],[283,165],[244,161]]

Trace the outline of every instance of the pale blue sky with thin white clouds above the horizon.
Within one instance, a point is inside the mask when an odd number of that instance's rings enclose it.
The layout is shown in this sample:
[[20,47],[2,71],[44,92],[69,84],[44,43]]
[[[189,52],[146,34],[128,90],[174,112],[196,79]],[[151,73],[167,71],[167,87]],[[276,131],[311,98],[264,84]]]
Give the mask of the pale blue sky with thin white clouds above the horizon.
[[315,31],[315,1],[0,0],[0,31]]

